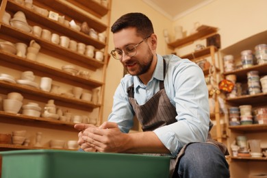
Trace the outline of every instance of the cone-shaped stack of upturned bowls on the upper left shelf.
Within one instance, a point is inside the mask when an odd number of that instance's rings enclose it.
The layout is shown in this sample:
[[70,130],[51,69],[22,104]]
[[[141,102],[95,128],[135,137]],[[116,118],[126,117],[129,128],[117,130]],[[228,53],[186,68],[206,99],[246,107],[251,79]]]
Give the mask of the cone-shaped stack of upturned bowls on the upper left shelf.
[[24,12],[18,11],[10,20],[10,25],[16,29],[20,29],[27,33],[31,32],[31,27],[28,25]]

